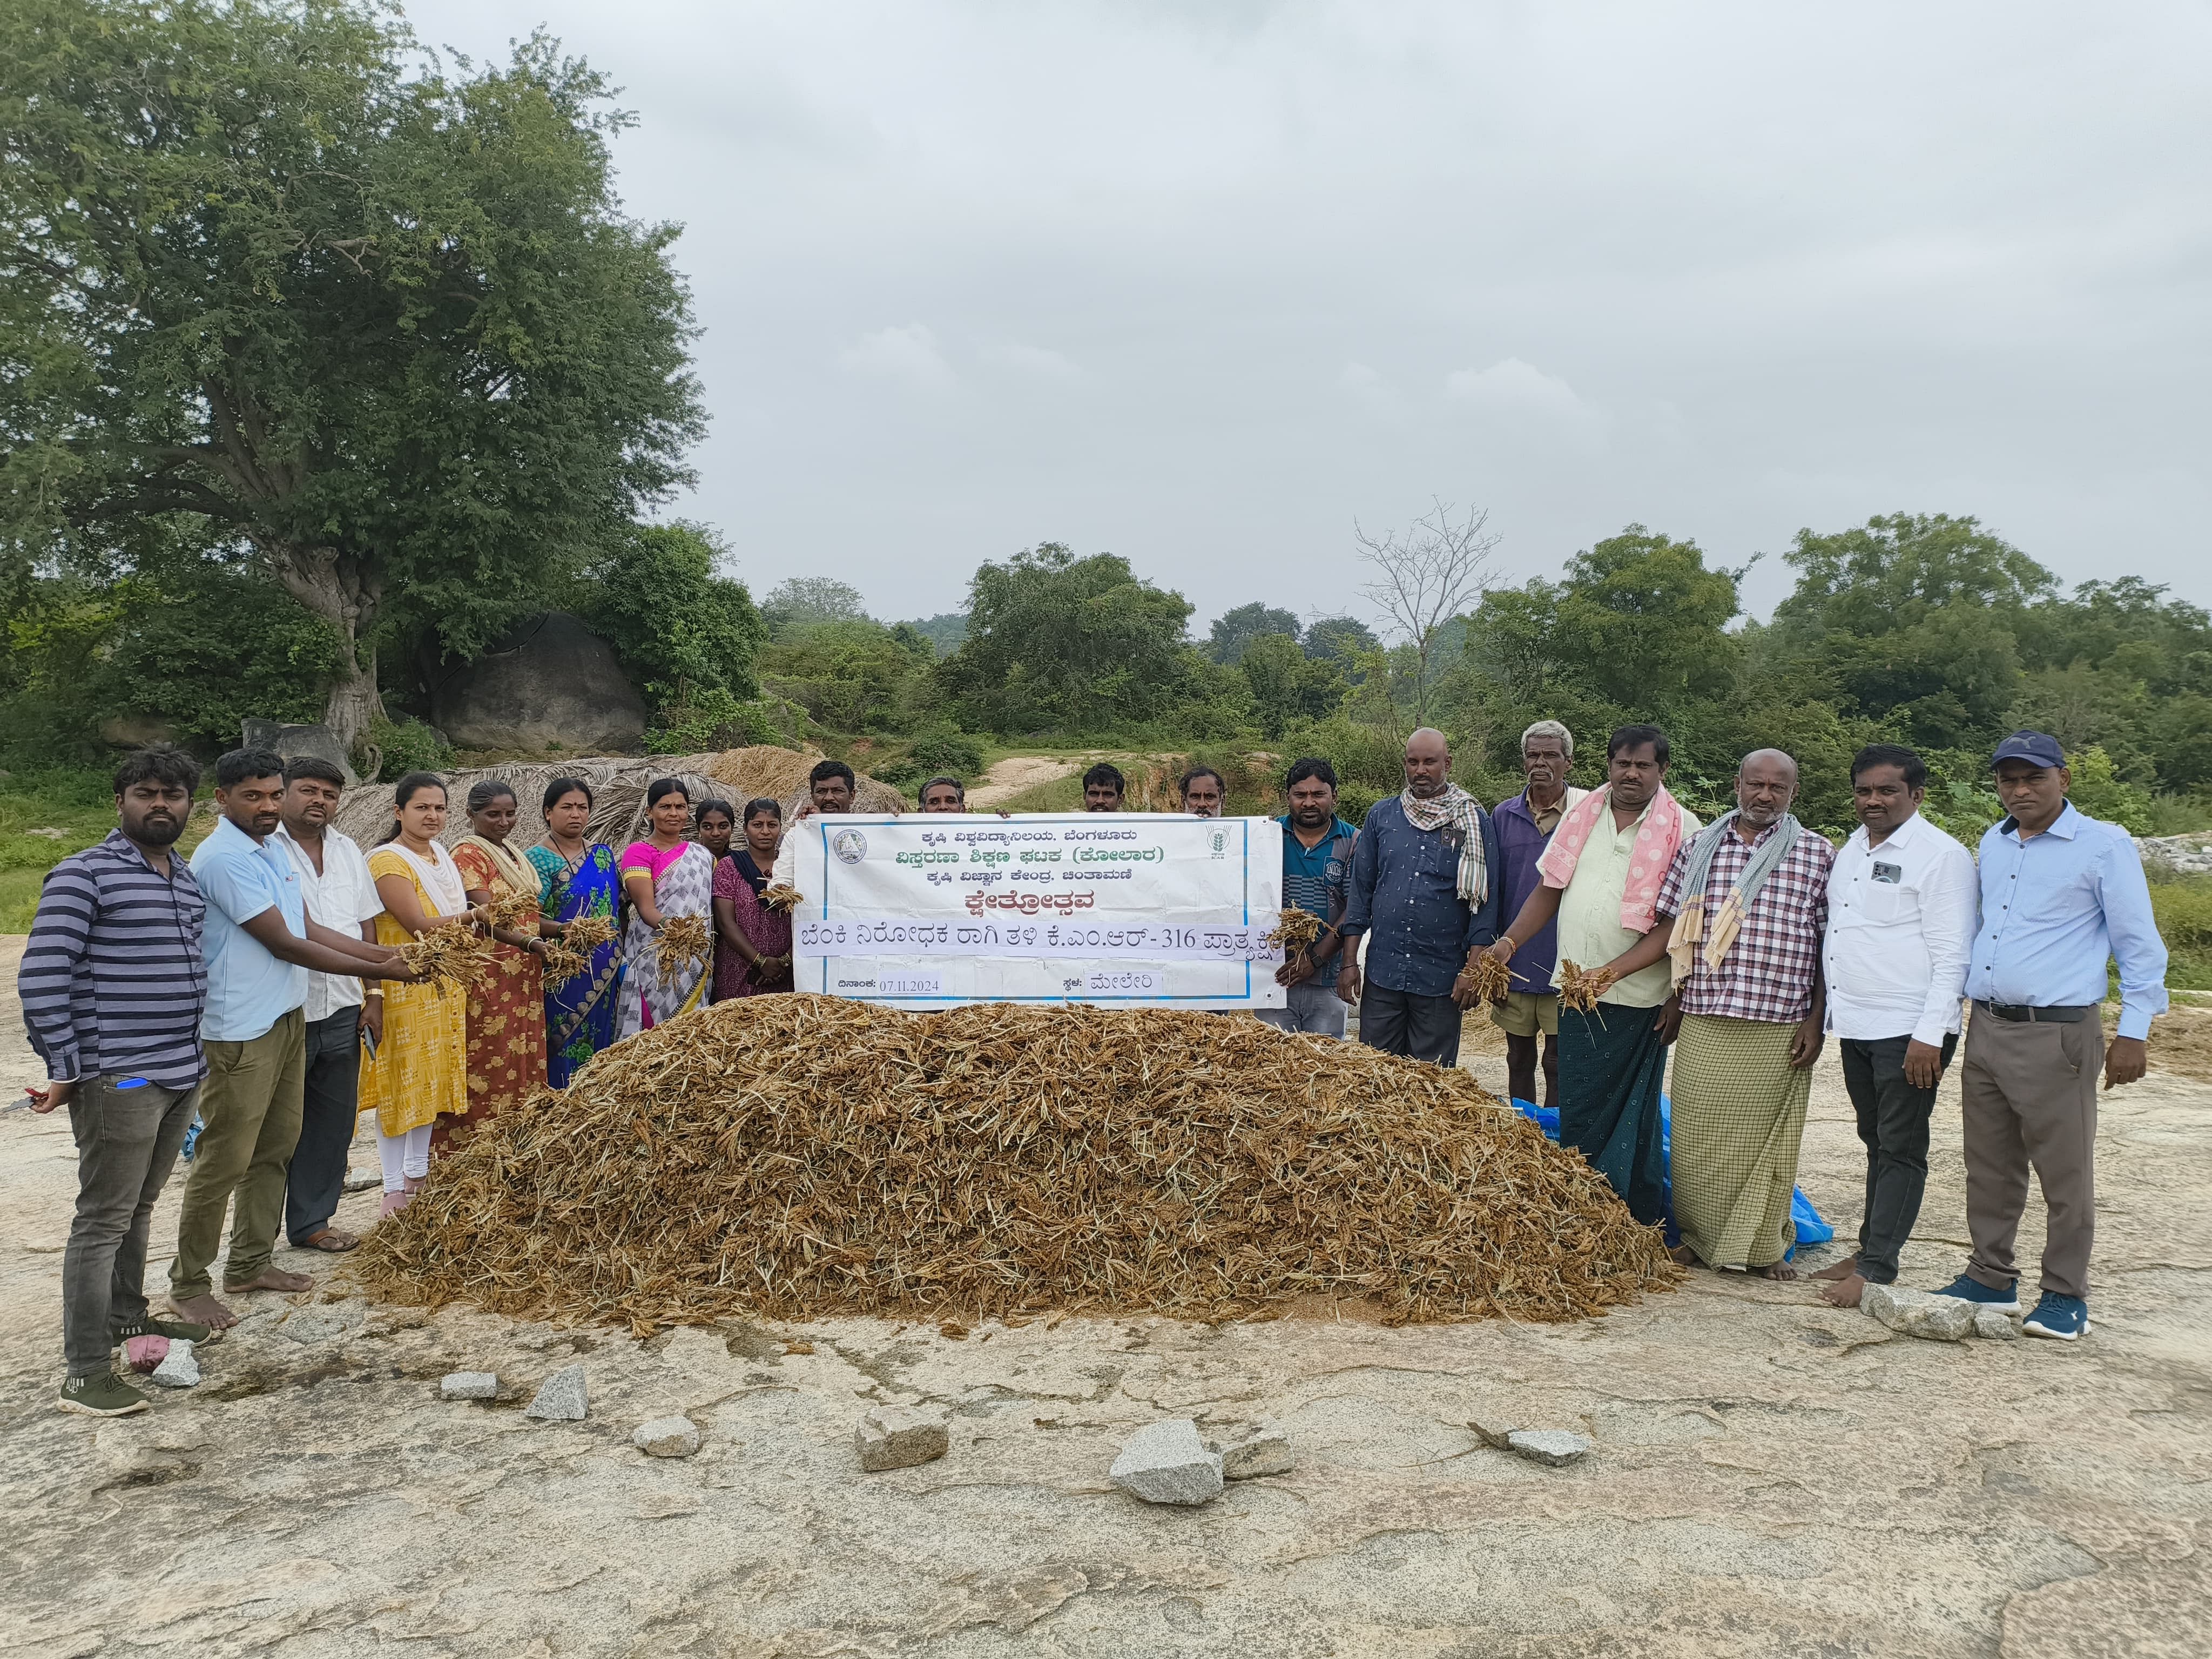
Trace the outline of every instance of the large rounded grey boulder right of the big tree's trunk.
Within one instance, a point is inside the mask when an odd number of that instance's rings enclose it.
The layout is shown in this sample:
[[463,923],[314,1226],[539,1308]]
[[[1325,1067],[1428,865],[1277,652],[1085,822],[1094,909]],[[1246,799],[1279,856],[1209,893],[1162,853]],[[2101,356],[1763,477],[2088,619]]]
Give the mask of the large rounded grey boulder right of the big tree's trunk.
[[646,701],[613,646],[560,611],[438,681],[431,719],[465,750],[544,754],[560,743],[564,754],[606,754],[646,741]]

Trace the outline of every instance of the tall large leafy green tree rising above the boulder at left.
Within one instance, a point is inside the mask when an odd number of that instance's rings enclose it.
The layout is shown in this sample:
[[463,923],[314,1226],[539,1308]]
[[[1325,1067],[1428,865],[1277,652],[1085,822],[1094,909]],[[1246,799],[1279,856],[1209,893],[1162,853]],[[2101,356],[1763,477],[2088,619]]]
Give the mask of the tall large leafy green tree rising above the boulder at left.
[[345,641],[480,646],[686,473],[675,230],[546,38],[445,73],[372,0],[0,0],[0,513],[117,575],[186,515]]

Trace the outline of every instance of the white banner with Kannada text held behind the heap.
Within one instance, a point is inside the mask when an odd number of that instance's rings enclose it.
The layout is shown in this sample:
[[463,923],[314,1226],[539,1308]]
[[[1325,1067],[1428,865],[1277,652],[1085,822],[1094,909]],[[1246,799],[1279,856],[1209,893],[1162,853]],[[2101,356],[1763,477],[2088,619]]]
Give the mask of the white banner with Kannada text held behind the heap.
[[1274,818],[814,816],[792,825],[792,982],[863,1002],[1281,1009]]

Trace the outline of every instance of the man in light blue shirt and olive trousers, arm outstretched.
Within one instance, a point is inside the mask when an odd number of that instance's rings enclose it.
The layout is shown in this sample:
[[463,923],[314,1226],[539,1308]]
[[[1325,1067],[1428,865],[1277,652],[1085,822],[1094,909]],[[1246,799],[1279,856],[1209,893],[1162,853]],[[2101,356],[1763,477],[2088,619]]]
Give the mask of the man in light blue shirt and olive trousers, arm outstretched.
[[168,1298],[195,1325],[237,1325],[215,1298],[210,1267],[223,1241],[223,1214],[237,1199],[223,1292],[312,1290],[307,1274],[274,1263],[283,1221],[285,1170],[299,1144],[307,1077],[307,971],[356,978],[407,978],[398,953],[310,920],[299,872],[272,841],[283,796],[283,757],[232,750],[215,763],[215,805],[223,814],[192,854],[192,880],[208,900],[201,951],[208,1006],[201,1044],[208,1079],[199,1091],[206,1128],[192,1150],[177,1217],[177,1259]]

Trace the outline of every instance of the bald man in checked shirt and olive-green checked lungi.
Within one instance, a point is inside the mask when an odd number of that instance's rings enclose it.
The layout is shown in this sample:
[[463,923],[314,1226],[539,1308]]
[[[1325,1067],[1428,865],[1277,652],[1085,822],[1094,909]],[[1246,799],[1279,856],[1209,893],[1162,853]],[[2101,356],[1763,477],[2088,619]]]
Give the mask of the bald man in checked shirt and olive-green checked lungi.
[[1681,1261],[1796,1279],[1783,1261],[1812,1062],[1820,1057],[1820,936],[1836,849],[1790,812],[1781,750],[1736,768],[1736,810],[1686,841],[1659,883],[1659,925],[1606,967],[1672,958],[1674,1223]]

